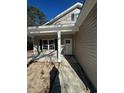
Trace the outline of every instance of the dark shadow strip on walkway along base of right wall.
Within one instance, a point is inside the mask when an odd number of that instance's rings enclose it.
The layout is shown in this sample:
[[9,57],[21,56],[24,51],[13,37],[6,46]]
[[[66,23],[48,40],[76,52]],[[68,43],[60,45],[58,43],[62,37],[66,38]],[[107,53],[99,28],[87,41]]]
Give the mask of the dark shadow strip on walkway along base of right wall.
[[[66,60],[69,62],[71,67],[74,69],[74,71],[77,73],[79,78],[84,82],[87,89],[91,90],[91,93],[96,93],[97,90],[89,80],[88,76],[84,72],[83,68],[80,66],[80,64],[77,62],[76,58],[72,55],[70,56],[64,56]],[[75,62],[72,62],[72,58],[74,58]]]

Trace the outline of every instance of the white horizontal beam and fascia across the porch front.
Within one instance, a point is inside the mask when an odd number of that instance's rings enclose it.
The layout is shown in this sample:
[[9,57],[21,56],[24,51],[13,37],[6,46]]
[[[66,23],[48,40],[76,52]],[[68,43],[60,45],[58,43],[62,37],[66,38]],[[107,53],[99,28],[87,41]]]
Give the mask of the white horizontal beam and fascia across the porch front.
[[73,33],[78,31],[78,28],[75,24],[69,25],[47,25],[47,26],[39,26],[39,27],[28,27],[28,35],[40,35],[40,34],[56,34],[57,31],[61,31],[63,33]]

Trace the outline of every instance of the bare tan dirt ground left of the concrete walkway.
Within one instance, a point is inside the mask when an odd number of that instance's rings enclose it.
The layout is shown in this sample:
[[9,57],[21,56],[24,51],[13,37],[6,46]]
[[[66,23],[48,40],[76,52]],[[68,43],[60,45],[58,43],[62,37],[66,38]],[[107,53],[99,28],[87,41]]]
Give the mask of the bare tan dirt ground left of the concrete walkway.
[[51,93],[58,68],[59,63],[32,63],[27,68],[27,93]]

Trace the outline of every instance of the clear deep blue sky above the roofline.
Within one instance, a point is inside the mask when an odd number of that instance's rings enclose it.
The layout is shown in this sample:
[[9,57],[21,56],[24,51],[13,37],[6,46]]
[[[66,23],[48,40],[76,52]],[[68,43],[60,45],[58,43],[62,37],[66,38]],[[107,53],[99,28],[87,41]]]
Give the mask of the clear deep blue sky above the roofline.
[[76,2],[83,3],[84,0],[27,0],[27,4],[35,6],[42,11],[48,21]]

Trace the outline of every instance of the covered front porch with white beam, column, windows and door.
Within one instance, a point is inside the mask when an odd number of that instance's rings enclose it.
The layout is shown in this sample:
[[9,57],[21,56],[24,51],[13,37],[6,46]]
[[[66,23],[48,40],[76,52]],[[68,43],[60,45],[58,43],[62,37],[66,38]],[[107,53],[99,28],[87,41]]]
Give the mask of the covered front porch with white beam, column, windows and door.
[[78,31],[74,24],[29,27],[33,57],[39,61],[61,62],[61,54],[72,55],[73,35]]

